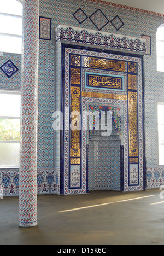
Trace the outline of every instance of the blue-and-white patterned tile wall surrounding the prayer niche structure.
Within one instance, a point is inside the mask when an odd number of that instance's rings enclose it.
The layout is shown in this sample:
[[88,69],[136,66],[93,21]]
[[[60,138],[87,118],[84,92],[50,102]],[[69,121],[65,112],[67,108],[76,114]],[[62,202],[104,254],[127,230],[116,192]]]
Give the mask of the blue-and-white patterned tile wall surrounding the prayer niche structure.
[[[78,11],[80,8],[82,11]],[[91,16],[95,13],[98,15],[98,9],[102,12],[101,24],[96,24],[96,16]],[[144,13],[143,11],[138,12],[136,9],[128,10],[115,4],[103,5],[98,1],[84,0],[40,0],[40,16],[52,18],[52,40],[39,40],[38,172],[40,176],[38,191],[40,193],[54,193],[57,180],[54,169],[55,143],[54,131],[52,130],[54,121],[52,114],[54,113],[54,88],[56,87],[54,63],[55,57],[58,57],[54,56],[54,29],[60,24],[89,30],[101,28],[104,32],[110,31],[110,33],[119,33],[130,37],[141,38],[142,35],[151,37],[151,55],[146,55],[144,62],[147,187],[155,188],[159,187],[160,184],[164,184],[162,174],[164,167],[158,166],[157,154],[157,102],[164,102],[164,75],[156,72],[156,30],[157,27],[164,23],[163,16],[149,12]],[[8,78],[0,71],[0,89],[19,91],[21,56],[13,54],[0,55],[0,66],[9,59],[19,68],[19,71],[11,78]],[[16,172],[17,170],[15,170],[15,174]],[[4,176],[4,173],[10,173],[10,170],[5,170],[5,172],[0,170],[1,177]],[[51,178],[48,176],[49,174]],[[10,178],[11,182],[14,181],[12,177]],[[10,194],[11,186],[8,185],[5,190],[6,194]],[[16,194],[16,190],[14,190],[14,193]]]

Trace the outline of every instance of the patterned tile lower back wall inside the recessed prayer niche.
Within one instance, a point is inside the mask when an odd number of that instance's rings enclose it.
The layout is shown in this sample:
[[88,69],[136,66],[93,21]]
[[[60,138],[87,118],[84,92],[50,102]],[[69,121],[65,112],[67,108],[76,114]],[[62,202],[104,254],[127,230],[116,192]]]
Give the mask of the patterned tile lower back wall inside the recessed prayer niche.
[[120,147],[90,144],[89,190],[120,191]]

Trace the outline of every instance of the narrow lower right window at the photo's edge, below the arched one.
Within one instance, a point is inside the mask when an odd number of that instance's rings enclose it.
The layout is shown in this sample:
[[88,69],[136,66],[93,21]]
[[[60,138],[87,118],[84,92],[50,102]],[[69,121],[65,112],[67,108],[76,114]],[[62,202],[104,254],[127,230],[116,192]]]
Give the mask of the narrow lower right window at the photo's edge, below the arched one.
[[158,104],[159,165],[164,165],[164,103]]

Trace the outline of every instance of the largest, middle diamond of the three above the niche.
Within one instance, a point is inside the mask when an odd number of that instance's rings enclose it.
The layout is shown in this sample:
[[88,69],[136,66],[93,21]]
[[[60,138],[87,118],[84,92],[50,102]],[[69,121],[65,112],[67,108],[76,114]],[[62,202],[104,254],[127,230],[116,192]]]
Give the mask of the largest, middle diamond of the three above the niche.
[[90,16],[90,20],[93,22],[98,30],[102,30],[102,28],[109,23],[106,15],[104,15],[100,9],[95,11],[95,13]]

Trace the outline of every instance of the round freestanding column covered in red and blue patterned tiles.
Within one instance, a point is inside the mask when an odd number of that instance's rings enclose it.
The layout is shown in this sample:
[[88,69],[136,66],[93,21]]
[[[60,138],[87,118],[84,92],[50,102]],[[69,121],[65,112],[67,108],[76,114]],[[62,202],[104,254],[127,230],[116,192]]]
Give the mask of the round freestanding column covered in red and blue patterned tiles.
[[37,225],[37,106],[39,0],[24,1],[19,226]]

